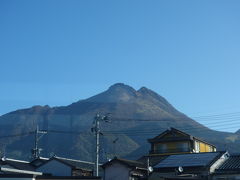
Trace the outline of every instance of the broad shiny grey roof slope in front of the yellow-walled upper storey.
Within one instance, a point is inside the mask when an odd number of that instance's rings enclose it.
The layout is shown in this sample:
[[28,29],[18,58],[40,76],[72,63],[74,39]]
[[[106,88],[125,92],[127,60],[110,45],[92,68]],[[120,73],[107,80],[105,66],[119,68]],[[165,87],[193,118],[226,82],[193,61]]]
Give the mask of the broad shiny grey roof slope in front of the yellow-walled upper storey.
[[207,167],[215,162],[223,152],[192,153],[170,155],[162,160],[154,168],[177,168],[181,167]]

